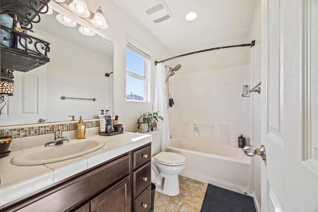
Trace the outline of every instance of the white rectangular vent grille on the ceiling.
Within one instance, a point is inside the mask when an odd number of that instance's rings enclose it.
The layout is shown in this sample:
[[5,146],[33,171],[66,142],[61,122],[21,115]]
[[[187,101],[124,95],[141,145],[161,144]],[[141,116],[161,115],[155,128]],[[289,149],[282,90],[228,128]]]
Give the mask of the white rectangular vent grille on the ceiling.
[[154,23],[160,23],[172,17],[170,9],[163,0],[147,6],[144,11]]

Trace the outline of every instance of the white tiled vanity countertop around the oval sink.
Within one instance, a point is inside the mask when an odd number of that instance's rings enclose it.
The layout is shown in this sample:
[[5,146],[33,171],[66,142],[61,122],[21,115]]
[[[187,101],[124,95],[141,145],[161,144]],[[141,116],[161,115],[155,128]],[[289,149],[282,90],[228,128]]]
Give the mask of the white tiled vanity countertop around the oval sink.
[[[103,140],[105,145],[101,149],[77,158],[36,166],[16,166],[10,163],[15,155],[28,149],[13,151],[8,156],[0,158],[0,209],[15,200],[150,143],[152,136],[124,132],[113,136],[86,136],[85,139]],[[76,141],[76,139],[70,140],[70,142]]]

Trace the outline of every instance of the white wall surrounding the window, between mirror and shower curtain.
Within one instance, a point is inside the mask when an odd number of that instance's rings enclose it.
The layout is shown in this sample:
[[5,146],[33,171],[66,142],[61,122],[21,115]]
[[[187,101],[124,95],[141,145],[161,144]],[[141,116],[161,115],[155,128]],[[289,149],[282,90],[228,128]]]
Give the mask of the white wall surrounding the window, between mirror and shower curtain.
[[[133,22],[111,0],[96,0],[91,8],[101,6],[108,23],[108,29],[103,30],[105,37],[114,43],[114,115],[119,116],[119,122],[123,124],[125,131],[137,131],[137,118],[144,112],[152,111],[154,99],[154,74],[155,61],[168,55],[166,49],[161,47],[154,36],[145,31],[137,23]],[[145,46],[152,54],[151,69],[151,102],[126,102],[126,36],[129,35],[138,43]]]

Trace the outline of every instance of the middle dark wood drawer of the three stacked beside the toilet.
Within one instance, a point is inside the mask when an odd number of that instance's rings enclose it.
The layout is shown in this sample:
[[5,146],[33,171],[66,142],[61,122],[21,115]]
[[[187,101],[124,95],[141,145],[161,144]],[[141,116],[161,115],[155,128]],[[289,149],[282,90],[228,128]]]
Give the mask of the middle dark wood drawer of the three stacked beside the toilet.
[[151,181],[151,163],[148,162],[133,172],[134,192],[133,198],[135,199],[142,191],[144,191]]

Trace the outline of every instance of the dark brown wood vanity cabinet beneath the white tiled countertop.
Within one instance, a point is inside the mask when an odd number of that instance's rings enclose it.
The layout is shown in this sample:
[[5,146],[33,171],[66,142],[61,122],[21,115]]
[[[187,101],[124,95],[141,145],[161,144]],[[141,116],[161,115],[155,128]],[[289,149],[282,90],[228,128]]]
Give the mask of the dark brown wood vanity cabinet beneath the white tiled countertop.
[[[1,212],[143,212],[151,204],[150,157],[135,163],[147,144],[67,178]],[[143,152],[143,151],[141,151]],[[145,157],[143,157],[145,158]],[[133,169],[132,167],[136,167]],[[133,206],[134,204],[134,206]]]

